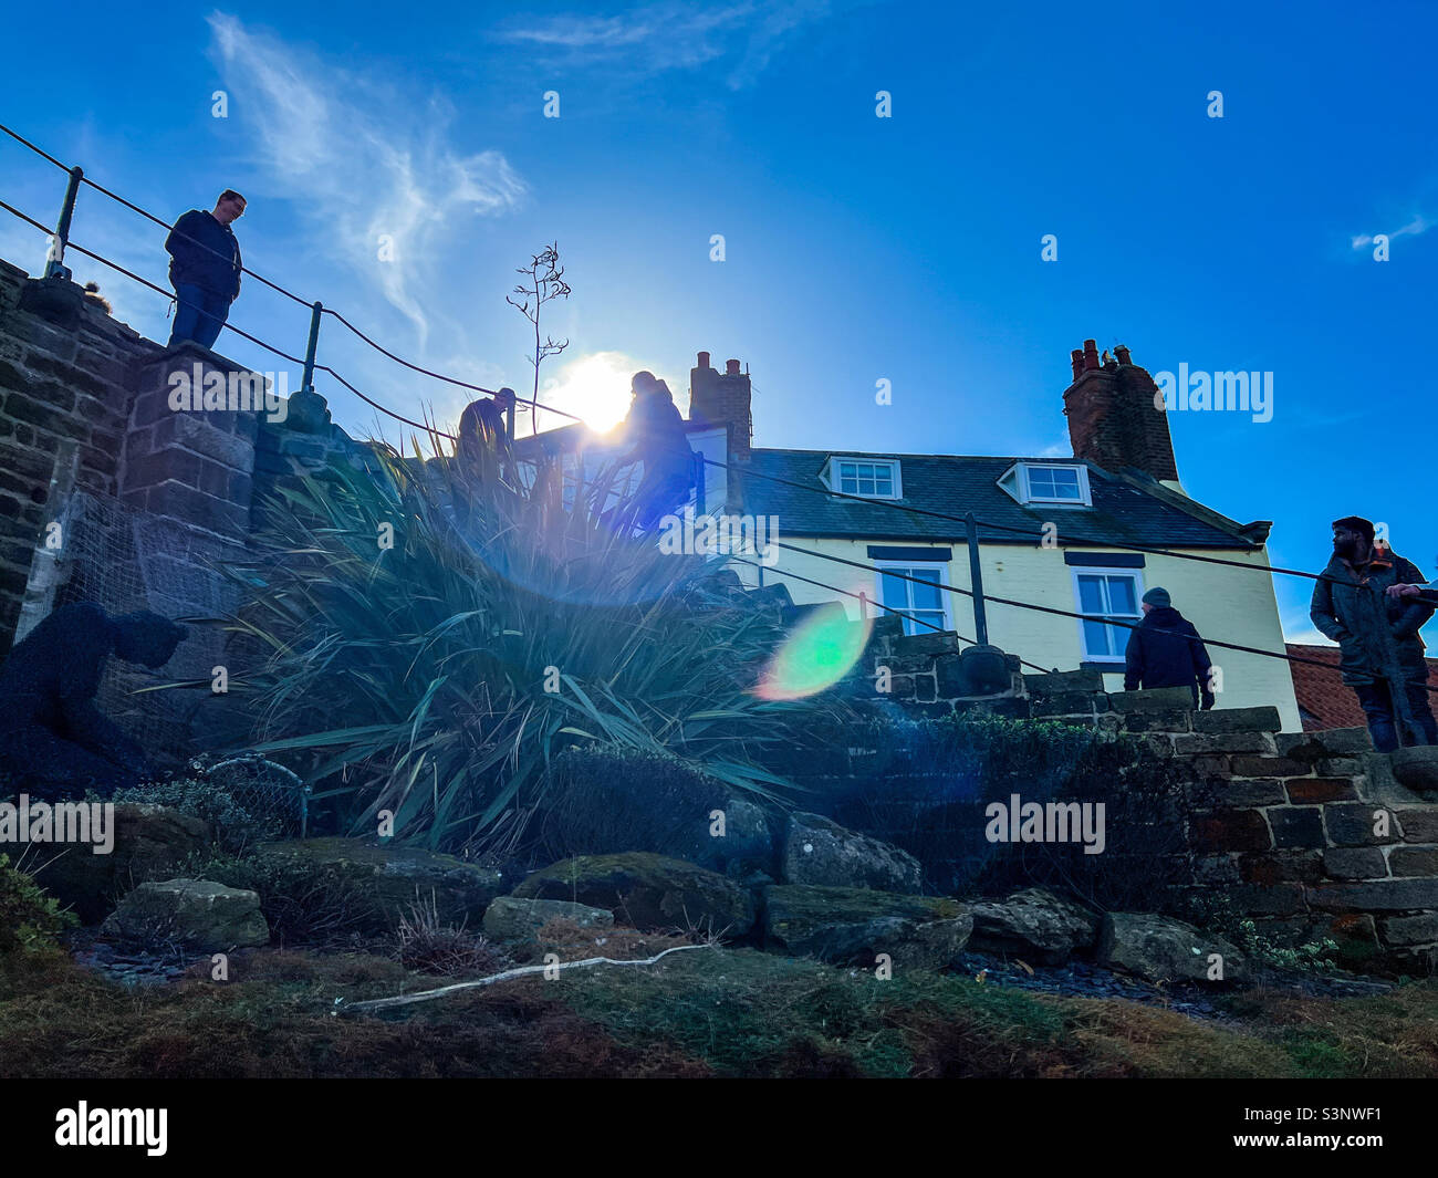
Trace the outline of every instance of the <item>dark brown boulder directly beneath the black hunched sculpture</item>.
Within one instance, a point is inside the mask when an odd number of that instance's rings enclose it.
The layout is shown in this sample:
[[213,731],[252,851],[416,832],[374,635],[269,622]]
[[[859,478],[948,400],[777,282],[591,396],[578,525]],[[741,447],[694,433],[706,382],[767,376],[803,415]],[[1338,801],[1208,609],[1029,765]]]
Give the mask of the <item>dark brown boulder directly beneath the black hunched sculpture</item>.
[[164,805],[119,803],[114,846],[95,854],[88,843],[46,849],[35,880],[86,925],[105,919],[115,902],[141,883],[173,876],[211,840],[210,824]]

